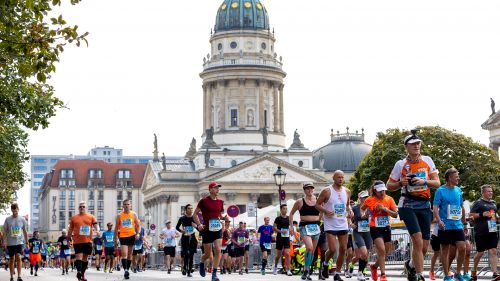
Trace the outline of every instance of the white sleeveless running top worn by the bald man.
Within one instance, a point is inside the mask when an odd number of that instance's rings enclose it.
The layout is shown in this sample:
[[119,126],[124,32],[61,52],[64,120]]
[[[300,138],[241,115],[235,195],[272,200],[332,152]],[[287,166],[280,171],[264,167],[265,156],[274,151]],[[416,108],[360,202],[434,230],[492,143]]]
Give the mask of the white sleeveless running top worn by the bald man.
[[325,202],[325,209],[333,211],[333,217],[323,216],[323,224],[325,230],[348,230],[347,224],[347,191],[342,187],[340,191],[336,191],[332,185],[328,186],[330,189],[330,198]]

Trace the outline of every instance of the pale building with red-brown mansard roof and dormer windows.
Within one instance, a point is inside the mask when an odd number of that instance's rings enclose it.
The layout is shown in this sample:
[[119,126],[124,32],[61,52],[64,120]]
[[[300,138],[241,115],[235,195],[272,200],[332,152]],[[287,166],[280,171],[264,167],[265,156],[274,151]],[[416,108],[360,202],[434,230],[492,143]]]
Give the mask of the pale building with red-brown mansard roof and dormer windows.
[[87,211],[103,228],[122,210],[122,201],[130,199],[142,218],[143,198],[140,187],[146,165],[108,163],[103,160],[59,160],[47,173],[40,188],[40,235],[54,241],[78,212],[78,204],[87,202]]

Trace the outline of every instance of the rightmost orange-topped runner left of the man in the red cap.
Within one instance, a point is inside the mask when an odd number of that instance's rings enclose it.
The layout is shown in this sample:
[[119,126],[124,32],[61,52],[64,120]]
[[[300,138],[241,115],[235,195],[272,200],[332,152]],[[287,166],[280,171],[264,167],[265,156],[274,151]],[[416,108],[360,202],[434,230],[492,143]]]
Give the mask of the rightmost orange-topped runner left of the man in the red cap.
[[135,240],[139,239],[141,225],[137,215],[130,209],[132,207],[129,199],[123,200],[123,212],[116,217],[115,227],[115,248],[118,247],[118,237],[120,238],[122,266],[125,270],[124,277],[129,279],[129,269],[132,264],[132,250]]

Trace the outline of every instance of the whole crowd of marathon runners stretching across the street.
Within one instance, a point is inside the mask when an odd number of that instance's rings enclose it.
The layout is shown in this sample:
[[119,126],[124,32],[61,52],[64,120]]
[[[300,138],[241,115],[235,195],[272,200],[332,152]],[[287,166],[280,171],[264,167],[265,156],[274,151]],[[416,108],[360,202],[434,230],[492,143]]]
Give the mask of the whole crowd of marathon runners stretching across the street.
[[[344,173],[335,171],[333,183],[315,195],[312,183],[303,185],[304,196],[293,204],[290,212],[286,204],[280,206],[279,215],[271,223],[264,218],[257,229],[257,240],[261,252],[260,272],[266,274],[272,263],[273,274],[292,276],[291,256],[293,248],[305,247],[302,280],[312,280],[316,264],[319,280],[355,277],[357,280],[388,280],[386,259],[394,250],[391,234],[391,218],[399,217],[406,225],[411,237],[411,257],[404,262],[409,281],[424,281],[424,257],[431,245],[434,255],[431,268],[425,276],[435,280],[436,263],[439,259],[443,280],[477,280],[478,264],[488,252],[492,279],[499,281],[497,271],[498,227],[497,204],[493,199],[493,187],[483,185],[481,198],[474,202],[466,215],[462,191],[458,187],[459,171],[451,167],[444,173],[441,184],[433,160],[420,154],[422,141],[413,133],[404,139],[407,157],[398,161],[387,182],[374,180],[373,184],[356,194],[357,202],[351,200],[351,191],[344,186]],[[231,227],[224,214],[224,202],[218,197],[221,185],[212,182],[209,195],[196,206],[185,206],[185,214],[175,227],[168,221],[159,237],[168,274],[180,245],[182,274],[192,277],[195,269],[194,256],[201,240],[202,256],[197,265],[199,274],[211,275],[218,281],[218,273],[248,273],[250,263],[250,231],[241,221]],[[431,188],[435,189],[431,200]],[[396,204],[387,191],[401,190]],[[5,220],[0,238],[7,249],[11,281],[21,279],[23,256],[29,261],[30,274],[37,275],[40,266],[57,266],[62,274],[69,268],[76,270],[78,280],[86,281],[85,272],[89,257],[95,256],[95,266],[104,272],[124,270],[124,278],[130,271],[144,269],[145,256],[151,245],[145,239],[144,228],[136,213],[131,210],[130,200],[123,201],[123,211],[116,221],[107,223],[102,231],[96,218],[86,212],[86,203],[79,204],[79,213],[71,218],[68,230],[63,230],[56,244],[44,243],[35,231],[28,239],[27,225],[19,216],[19,207],[12,204],[12,216]],[[298,223],[294,221],[299,213]],[[473,239],[477,253],[470,267],[471,241],[466,239],[469,222],[473,223]],[[273,247],[275,245],[275,247]],[[275,259],[269,261],[271,252]],[[376,259],[369,264],[370,253]],[[319,259],[319,262],[317,261]],[[451,265],[455,263],[455,267]],[[358,264],[357,274],[353,274]],[[369,273],[369,274],[367,274]]]

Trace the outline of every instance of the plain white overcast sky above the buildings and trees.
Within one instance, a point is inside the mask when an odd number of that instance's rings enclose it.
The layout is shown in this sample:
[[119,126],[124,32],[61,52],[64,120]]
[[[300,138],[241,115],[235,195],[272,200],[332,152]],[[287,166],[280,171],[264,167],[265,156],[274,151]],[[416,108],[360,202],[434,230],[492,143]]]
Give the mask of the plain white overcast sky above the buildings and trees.
[[[330,129],[364,128],[372,143],[377,132],[419,125],[488,144],[490,98],[500,107],[500,2],[261,1],[287,72],[287,146],[295,129],[313,150]],[[153,133],[169,156],[184,155],[193,137],[201,144],[199,73],[221,3],[84,0],[55,11],[90,33],[89,46],[61,55],[50,82],[68,109],[30,132],[30,153],[109,145],[151,155]],[[28,206],[28,185],[19,194]]]

